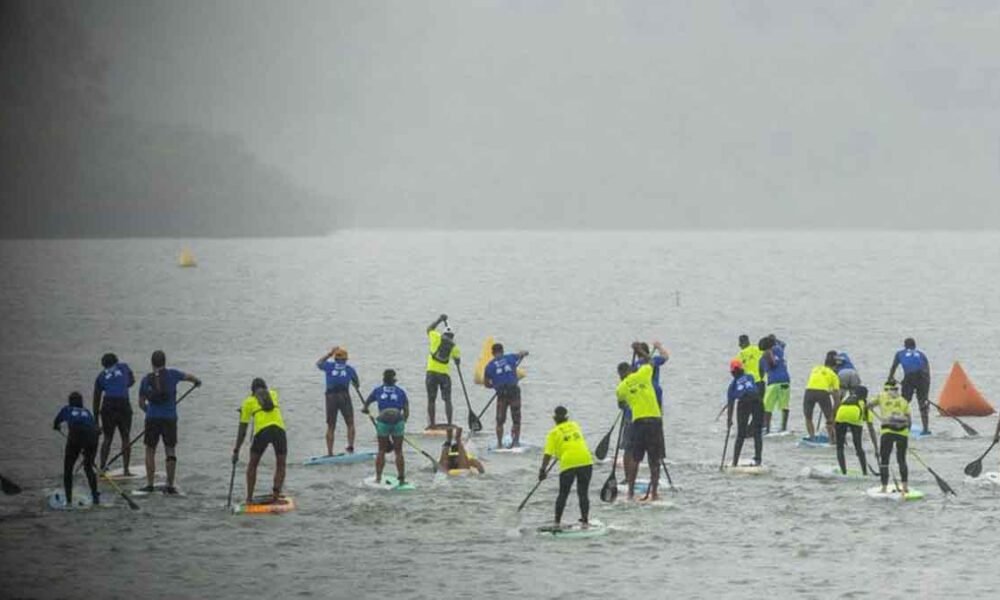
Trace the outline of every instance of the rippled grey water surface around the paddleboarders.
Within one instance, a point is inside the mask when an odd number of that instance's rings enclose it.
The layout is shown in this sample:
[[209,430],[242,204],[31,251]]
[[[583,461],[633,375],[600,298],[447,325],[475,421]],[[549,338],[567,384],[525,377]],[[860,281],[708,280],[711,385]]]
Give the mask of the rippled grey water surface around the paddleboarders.
[[[713,418],[743,332],[788,343],[797,431],[805,376],[826,350],[850,352],[876,386],[907,335],[931,359],[933,394],[961,360],[987,397],[1000,396],[998,242],[959,233],[358,232],[198,241],[196,269],[175,266],[181,241],[2,242],[0,472],[26,491],[0,497],[0,595],[992,597],[1000,497],[962,475],[985,437],[935,418],[936,435],[915,446],[959,496],[942,497],[911,461],[913,485],[928,497],[904,506],[866,498],[872,482],[800,477],[835,458],[791,439],[766,443],[770,476],[721,475],[723,426]],[[593,517],[613,531],[552,540],[524,529],[551,519],[554,480],[515,512],[537,454],[486,455],[486,477],[435,482],[408,453],[420,486],[409,495],[362,489],[369,465],[300,466],[324,449],[313,362],[335,343],[348,346],[366,389],[395,368],[413,400],[410,429],[422,428],[424,328],[441,312],[468,367],[487,335],[531,351],[529,441],[564,404],[595,445],[615,415],[614,367],[629,342],[662,340],[672,352],[663,383],[680,490],[666,506],[605,505],[597,490],[610,467],[600,466]],[[187,498],[152,497],[140,513],[45,510],[61,473],[51,419],[67,393],[79,389],[89,404],[103,352],[140,373],[157,348],[205,381],[179,409]],[[287,491],[299,510],[279,517],[223,510],[235,410],[255,376],[281,392],[289,430]],[[466,378],[481,407],[489,395]],[[969,422],[987,434],[995,421]],[[370,428],[359,423],[359,432],[358,445],[371,446]],[[436,453],[438,442],[414,441]],[[262,490],[272,465],[269,454]],[[996,469],[994,455],[986,470]],[[571,498],[567,517],[576,514]]]

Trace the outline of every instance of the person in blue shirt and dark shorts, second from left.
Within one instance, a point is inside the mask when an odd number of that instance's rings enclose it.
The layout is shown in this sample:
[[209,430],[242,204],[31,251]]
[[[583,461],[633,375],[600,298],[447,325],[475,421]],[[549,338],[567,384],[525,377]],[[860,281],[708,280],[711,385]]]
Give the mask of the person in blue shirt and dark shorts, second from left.
[[94,415],[101,418],[101,430],[104,440],[101,442],[101,470],[108,464],[108,453],[111,452],[111,442],[115,431],[122,446],[122,474],[126,477],[132,473],[129,464],[132,459],[132,447],[129,437],[132,432],[132,405],[129,403],[128,389],[135,385],[135,375],[132,369],[118,357],[109,352],[101,357],[101,372],[94,380]]

